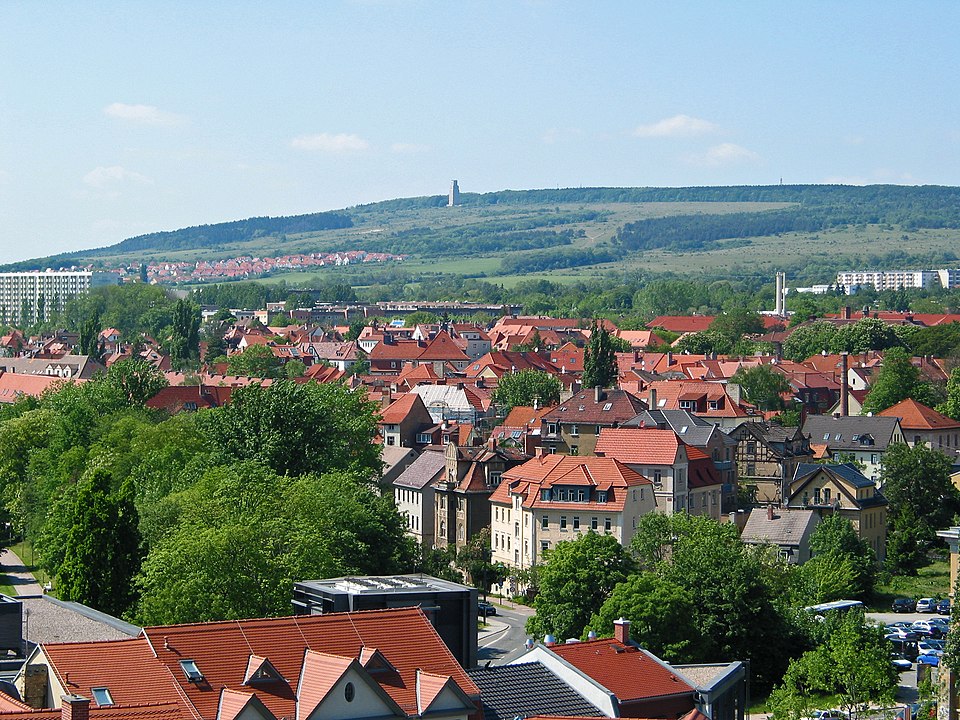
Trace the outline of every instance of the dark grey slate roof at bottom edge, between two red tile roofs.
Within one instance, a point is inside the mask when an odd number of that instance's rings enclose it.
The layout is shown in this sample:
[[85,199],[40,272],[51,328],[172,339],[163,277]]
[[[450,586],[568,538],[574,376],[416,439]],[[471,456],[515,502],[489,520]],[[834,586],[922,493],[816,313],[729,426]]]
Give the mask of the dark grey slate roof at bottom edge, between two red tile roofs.
[[594,705],[538,662],[473,668],[484,720],[534,715],[603,717]]

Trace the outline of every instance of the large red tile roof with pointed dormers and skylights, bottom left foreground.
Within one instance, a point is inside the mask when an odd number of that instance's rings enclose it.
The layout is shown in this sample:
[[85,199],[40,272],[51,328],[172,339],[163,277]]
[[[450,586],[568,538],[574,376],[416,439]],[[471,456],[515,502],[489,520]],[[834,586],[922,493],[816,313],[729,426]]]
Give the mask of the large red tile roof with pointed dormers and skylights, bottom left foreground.
[[[420,608],[152,627],[131,640],[42,649],[51,672],[71,692],[91,697],[92,687],[107,687],[117,705],[167,703],[184,707],[184,717],[214,720],[221,697],[211,689],[246,692],[251,686],[273,715],[296,717],[298,689],[309,699],[322,691],[331,667],[357,662],[364,648],[373,647],[395,671],[371,677],[410,715],[417,713],[419,670],[450,676],[467,696],[479,695]],[[251,655],[269,661],[284,680],[244,685]],[[311,684],[298,688],[305,659]],[[193,660],[203,680],[189,681],[181,660]],[[231,707],[241,701],[239,695],[227,698]]]

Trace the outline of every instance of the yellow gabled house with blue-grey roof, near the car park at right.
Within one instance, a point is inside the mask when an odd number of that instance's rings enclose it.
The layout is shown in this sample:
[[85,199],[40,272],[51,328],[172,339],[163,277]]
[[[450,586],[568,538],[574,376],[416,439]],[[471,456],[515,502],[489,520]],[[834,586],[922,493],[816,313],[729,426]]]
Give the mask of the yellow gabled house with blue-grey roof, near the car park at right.
[[887,499],[876,483],[852,464],[801,463],[790,481],[786,506],[814,510],[821,518],[837,513],[847,518],[883,562],[887,542]]

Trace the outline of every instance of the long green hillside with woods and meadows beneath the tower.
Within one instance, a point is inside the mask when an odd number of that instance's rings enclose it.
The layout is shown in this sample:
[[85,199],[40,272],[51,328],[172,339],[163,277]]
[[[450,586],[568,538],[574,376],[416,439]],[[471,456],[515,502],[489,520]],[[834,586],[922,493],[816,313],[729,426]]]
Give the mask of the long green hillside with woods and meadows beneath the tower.
[[445,196],[406,198],[184,228],[7,269],[366,250],[406,255],[411,272],[506,284],[614,268],[781,268],[814,282],[838,266],[952,263],[960,239],[960,188],[953,187],[572,188],[465,193],[461,200],[448,208]]

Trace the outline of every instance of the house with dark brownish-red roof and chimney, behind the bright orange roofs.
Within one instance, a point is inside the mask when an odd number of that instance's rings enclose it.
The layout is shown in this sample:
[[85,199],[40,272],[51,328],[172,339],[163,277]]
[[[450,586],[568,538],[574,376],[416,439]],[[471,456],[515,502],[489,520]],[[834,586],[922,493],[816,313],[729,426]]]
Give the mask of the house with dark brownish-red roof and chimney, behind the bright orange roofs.
[[540,443],[549,453],[592,455],[601,429],[619,427],[646,409],[626,390],[583,390],[543,416]]

